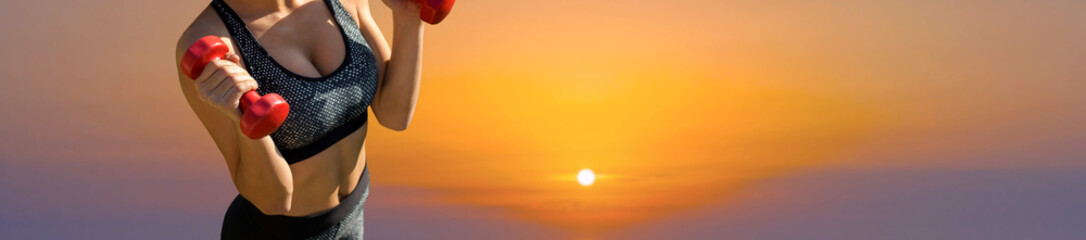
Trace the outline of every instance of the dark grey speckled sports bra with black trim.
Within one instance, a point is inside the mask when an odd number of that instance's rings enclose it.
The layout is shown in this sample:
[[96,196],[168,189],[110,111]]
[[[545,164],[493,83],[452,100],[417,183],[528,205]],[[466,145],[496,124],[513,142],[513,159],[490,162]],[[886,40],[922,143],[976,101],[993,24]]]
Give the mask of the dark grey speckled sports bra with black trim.
[[377,59],[369,43],[339,0],[324,1],[336,17],[346,54],[339,68],[321,77],[290,72],[268,55],[226,2],[211,3],[239,48],[245,70],[261,86],[256,92],[278,93],[290,104],[287,119],[272,134],[288,164],[316,155],[366,124],[366,108],[377,92]]

